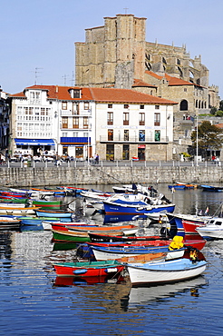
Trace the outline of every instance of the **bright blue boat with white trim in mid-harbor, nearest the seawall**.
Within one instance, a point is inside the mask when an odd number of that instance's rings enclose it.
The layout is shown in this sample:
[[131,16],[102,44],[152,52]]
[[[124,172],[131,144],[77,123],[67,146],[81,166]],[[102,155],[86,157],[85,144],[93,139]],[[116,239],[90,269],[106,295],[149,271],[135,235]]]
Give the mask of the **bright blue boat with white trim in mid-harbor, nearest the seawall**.
[[119,215],[138,215],[141,214],[143,218],[147,218],[146,213],[151,212],[174,212],[175,204],[160,204],[150,205],[144,202],[135,203],[116,203],[110,201],[103,201],[104,212],[106,214]]

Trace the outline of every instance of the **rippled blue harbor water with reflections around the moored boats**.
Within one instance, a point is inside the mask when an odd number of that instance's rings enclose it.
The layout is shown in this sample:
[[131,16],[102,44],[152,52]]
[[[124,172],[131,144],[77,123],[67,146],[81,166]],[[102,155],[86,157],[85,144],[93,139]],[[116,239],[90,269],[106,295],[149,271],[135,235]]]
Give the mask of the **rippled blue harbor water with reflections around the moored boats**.
[[[93,187],[93,186],[86,186]],[[175,212],[209,214],[221,210],[223,193],[201,189],[171,193]],[[106,192],[111,186],[98,186]],[[71,202],[68,197],[67,202]],[[70,204],[84,215],[82,199]],[[151,230],[160,230],[156,225]],[[131,287],[128,277],[67,279],[56,277],[53,262],[73,261],[76,250],[52,242],[52,232],[0,232],[0,335],[221,335],[223,333],[223,242],[202,250],[208,267],[196,279],[159,286]]]

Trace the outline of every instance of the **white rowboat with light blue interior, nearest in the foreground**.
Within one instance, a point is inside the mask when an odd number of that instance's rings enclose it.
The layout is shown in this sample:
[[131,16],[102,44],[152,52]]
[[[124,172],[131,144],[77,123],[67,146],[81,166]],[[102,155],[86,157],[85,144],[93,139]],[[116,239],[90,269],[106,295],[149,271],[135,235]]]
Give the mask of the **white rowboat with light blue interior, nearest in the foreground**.
[[180,258],[169,262],[127,263],[132,284],[179,282],[205,271],[207,262]]

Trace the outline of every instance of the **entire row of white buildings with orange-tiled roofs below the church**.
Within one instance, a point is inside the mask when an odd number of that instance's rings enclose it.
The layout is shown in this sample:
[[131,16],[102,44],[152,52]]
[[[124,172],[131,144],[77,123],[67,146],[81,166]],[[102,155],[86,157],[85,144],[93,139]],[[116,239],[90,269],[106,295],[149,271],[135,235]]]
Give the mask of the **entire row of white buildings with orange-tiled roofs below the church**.
[[133,90],[33,85],[12,94],[11,153],[170,160],[174,102]]

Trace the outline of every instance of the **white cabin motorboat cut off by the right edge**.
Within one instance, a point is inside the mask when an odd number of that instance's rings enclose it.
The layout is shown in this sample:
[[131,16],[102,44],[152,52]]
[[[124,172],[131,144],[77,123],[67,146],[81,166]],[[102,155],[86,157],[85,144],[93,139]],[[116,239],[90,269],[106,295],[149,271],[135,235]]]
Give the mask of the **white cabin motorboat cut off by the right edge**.
[[213,217],[206,225],[197,227],[196,231],[206,239],[223,239],[223,218]]

